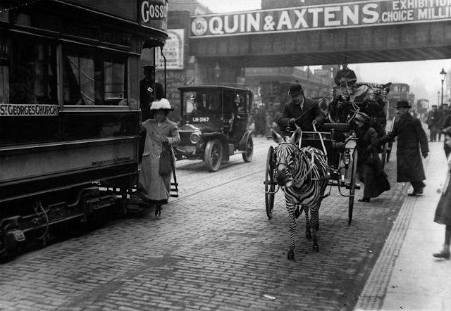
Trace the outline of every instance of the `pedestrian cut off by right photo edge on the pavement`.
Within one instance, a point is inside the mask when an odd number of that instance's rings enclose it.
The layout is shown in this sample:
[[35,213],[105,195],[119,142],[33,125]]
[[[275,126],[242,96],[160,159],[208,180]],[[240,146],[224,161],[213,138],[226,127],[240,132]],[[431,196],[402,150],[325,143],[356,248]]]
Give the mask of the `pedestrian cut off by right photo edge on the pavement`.
[[[445,144],[451,148],[451,127],[447,127],[445,131]],[[437,208],[435,209],[434,222],[438,224],[445,224],[445,244],[443,250],[439,253],[433,254],[435,258],[450,259],[450,240],[451,240],[451,157],[447,158],[448,167],[445,182],[443,186],[437,189],[438,193],[442,193],[440,200],[438,201]]]

